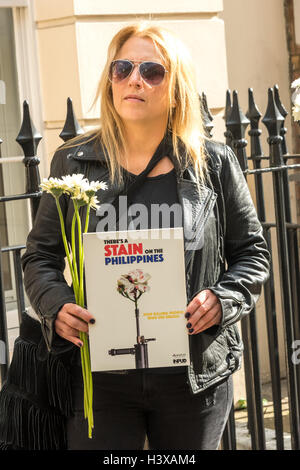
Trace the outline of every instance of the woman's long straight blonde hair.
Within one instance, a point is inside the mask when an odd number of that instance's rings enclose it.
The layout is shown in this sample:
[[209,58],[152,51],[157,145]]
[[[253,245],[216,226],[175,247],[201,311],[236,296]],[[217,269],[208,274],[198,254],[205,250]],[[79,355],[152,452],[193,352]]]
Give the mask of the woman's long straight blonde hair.
[[[179,151],[181,141],[188,161],[195,169],[197,182],[203,182],[206,170],[205,135],[192,60],[184,44],[160,25],[152,22],[135,23],[125,26],[113,37],[93,103],[100,99],[100,127],[97,131],[93,130],[85,135],[93,134],[92,138],[100,140],[111,179],[120,183],[122,181],[120,155],[125,149],[125,133],[122,120],[113,104],[112,86],[108,75],[111,62],[123,44],[132,36],[151,39],[161,55],[162,62],[168,70],[167,127],[172,132],[174,155],[182,165],[183,156]],[[67,146],[76,143],[78,139],[82,139],[82,135],[72,139]]]

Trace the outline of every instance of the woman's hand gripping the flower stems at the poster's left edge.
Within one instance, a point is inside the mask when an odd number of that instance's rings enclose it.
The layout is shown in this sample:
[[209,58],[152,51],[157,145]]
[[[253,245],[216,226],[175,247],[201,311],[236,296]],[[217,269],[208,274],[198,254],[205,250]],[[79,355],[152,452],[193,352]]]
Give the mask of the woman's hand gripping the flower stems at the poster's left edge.
[[95,323],[95,318],[85,308],[77,304],[64,304],[54,322],[56,333],[76,346],[83,346],[79,332],[88,333],[88,323]]

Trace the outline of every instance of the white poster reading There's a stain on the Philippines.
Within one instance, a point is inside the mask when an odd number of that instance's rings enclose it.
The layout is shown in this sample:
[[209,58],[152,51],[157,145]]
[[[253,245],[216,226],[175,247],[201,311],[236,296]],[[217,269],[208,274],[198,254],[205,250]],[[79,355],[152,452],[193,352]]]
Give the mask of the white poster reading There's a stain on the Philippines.
[[182,227],[83,235],[92,371],[190,364]]

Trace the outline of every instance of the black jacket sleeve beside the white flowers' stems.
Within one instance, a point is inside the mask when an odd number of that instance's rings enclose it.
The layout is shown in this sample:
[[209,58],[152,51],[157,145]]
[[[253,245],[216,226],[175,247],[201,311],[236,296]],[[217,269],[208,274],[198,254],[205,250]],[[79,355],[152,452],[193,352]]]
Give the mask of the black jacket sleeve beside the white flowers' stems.
[[[59,178],[64,174],[62,152],[57,151],[51,162],[50,176]],[[59,202],[65,219],[67,196],[62,195]],[[63,274],[65,256],[55,199],[51,194],[43,192],[21,263],[25,291],[41,321],[48,350],[56,335],[54,321],[57,313],[65,303],[76,303],[73,289]]]

